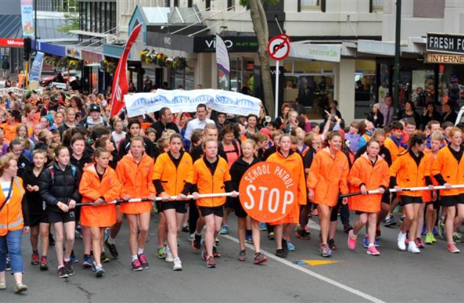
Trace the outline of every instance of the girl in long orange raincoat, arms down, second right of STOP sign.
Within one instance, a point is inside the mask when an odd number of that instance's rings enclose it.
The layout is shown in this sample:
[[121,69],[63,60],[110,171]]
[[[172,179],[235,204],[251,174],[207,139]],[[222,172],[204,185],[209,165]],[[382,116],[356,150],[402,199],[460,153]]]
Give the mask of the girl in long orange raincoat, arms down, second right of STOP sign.
[[[317,152],[308,175],[308,199],[317,204],[320,225],[320,255],[331,257],[332,250],[327,245],[330,229],[330,214],[337,204],[338,192],[348,193],[348,159],[340,150],[343,137],[333,131],[326,139],[326,147]],[[348,202],[343,198],[343,204]]]

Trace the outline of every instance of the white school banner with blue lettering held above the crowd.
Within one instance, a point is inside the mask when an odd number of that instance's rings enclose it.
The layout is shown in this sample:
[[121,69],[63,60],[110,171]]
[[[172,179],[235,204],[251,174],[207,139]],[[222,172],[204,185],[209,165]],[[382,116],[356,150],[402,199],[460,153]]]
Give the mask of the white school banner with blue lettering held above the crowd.
[[219,90],[164,90],[154,93],[137,93],[124,95],[127,116],[135,117],[169,107],[171,112],[195,112],[198,104],[206,104],[213,110],[241,116],[259,115],[261,100],[252,96]]

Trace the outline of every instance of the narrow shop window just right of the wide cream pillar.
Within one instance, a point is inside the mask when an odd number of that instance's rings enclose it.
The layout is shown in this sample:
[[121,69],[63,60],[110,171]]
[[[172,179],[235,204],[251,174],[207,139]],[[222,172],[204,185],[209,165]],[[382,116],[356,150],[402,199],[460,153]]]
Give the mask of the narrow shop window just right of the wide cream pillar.
[[364,119],[376,102],[376,61],[357,60],[355,68],[355,119]]

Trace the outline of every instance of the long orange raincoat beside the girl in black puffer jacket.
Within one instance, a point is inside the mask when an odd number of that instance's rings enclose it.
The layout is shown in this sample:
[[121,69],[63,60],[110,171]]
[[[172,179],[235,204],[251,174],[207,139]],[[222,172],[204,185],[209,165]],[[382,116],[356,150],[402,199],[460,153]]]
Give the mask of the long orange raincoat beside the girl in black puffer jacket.
[[[98,177],[94,163],[84,167],[79,193],[83,203],[91,203],[98,198],[110,202],[119,197],[121,183],[111,167],[107,167],[102,181]],[[116,222],[116,205],[83,206],[81,208],[81,225],[108,227]]]

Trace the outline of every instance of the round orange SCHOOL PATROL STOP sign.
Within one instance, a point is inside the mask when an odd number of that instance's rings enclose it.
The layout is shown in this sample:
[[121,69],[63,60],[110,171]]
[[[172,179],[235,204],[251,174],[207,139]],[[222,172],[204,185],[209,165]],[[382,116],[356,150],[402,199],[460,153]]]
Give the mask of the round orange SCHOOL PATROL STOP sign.
[[290,213],[296,200],[296,185],[285,167],[260,162],[250,167],[240,181],[240,203],[258,222],[274,222]]

